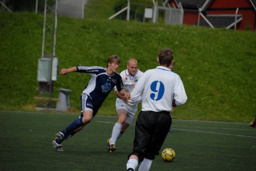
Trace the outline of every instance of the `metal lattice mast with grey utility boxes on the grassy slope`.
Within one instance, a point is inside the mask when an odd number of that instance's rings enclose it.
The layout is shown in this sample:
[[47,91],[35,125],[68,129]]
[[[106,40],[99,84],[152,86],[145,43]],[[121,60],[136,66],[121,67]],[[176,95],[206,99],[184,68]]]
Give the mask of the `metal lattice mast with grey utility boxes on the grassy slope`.
[[[53,1],[52,3],[49,1]],[[53,4],[52,6],[50,4]],[[58,58],[55,58],[58,0],[45,0],[42,54],[38,60],[39,97],[53,97],[53,83],[57,80]],[[42,104],[42,103],[41,103]],[[51,108],[52,102],[42,106]]]

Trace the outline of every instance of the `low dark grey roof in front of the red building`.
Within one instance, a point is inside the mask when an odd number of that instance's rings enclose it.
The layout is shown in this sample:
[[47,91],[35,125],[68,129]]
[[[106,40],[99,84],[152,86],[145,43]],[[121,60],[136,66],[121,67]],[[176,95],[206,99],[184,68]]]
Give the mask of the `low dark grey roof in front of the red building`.
[[[213,25],[214,28],[231,28],[242,20],[242,15],[206,15],[208,21]],[[194,24],[197,25],[197,22]],[[210,25],[203,18],[199,21],[200,26],[210,27]]]

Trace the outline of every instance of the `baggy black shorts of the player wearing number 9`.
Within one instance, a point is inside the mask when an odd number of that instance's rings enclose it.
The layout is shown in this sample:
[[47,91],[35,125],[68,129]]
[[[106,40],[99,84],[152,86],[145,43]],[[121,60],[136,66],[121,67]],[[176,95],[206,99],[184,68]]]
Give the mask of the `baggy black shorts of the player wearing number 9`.
[[140,111],[135,127],[133,152],[139,162],[144,158],[154,160],[169,132],[172,124],[170,112]]

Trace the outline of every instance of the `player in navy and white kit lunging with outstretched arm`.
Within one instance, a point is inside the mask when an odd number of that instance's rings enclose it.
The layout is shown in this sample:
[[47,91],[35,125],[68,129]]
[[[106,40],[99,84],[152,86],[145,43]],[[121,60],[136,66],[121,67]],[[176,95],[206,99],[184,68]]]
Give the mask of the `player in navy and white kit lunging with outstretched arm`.
[[74,66],[68,69],[61,69],[61,75],[80,72],[88,73],[92,77],[80,97],[81,115],[79,119],[73,121],[66,129],[57,133],[56,138],[53,140],[57,151],[63,151],[61,142],[83,129],[94,118],[105,98],[115,86],[120,94],[127,99],[130,98],[130,93],[126,93],[124,90],[121,76],[116,73],[120,62],[121,60],[117,55],[112,55],[108,58],[106,68],[99,66]]

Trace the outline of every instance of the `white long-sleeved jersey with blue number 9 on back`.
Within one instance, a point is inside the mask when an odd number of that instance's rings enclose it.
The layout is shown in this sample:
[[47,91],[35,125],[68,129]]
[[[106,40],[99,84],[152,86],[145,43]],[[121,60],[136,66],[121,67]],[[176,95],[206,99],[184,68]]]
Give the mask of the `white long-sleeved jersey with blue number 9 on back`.
[[142,100],[142,111],[171,111],[173,98],[182,106],[187,95],[180,76],[164,66],[147,70],[131,92],[131,100]]

